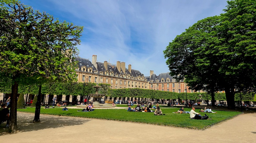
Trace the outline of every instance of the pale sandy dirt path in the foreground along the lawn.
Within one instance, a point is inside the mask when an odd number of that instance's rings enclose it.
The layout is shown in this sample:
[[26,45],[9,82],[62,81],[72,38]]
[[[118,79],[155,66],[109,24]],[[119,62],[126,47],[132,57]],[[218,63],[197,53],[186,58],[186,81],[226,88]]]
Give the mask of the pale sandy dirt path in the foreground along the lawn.
[[[45,142],[255,142],[256,113],[242,114],[207,130],[190,130],[148,124],[40,115],[40,123],[31,123],[34,114],[17,114],[19,132],[4,133],[0,127],[0,140],[10,143]],[[135,135],[136,130],[140,135]],[[3,132],[3,133],[1,133]],[[145,134],[143,134],[145,132]],[[184,138],[186,135],[187,138]],[[191,136],[191,137],[190,137]],[[199,137],[200,136],[200,137]],[[202,140],[203,136],[207,136]],[[185,139],[185,140],[184,140]],[[198,140],[200,139],[200,140]]]

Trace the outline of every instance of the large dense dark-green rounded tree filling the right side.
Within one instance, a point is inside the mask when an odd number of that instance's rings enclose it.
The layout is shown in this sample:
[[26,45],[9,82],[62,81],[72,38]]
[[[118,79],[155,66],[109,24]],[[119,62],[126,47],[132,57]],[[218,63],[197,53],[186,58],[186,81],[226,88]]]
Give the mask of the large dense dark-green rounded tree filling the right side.
[[228,106],[234,108],[241,84],[255,91],[255,8],[255,0],[228,1],[226,13],[200,20],[178,35],[164,51],[170,75],[212,95],[225,90]]

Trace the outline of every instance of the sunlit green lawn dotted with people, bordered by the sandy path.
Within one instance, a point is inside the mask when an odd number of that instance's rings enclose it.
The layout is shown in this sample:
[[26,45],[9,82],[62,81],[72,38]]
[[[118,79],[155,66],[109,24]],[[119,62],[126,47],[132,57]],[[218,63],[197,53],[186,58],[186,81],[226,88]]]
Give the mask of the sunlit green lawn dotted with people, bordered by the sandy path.
[[[126,106],[127,107],[127,106]],[[156,125],[186,127],[204,129],[214,123],[218,123],[227,118],[240,114],[240,112],[231,111],[218,111],[217,113],[207,113],[212,120],[191,120],[189,114],[174,114],[179,108],[162,108],[164,116],[156,116],[154,113],[144,112],[126,112],[126,109],[95,109],[92,112],[77,112],[77,109],[68,109],[62,111],[61,108],[41,108],[41,114],[61,115],[61,116],[74,116],[84,118],[97,118],[106,120],[117,120],[126,122],[141,122]],[[189,108],[184,108],[185,111],[190,111]],[[198,112],[199,109],[196,109]],[[20,112],[35,113],[35,108],[17,109]]]

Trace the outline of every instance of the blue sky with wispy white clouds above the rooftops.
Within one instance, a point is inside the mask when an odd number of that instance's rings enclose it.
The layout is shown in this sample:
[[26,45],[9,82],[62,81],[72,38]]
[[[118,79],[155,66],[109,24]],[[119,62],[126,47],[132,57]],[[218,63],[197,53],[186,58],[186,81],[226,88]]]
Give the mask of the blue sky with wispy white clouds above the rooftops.
[[79,56],[132,65],[145,76],[169,72],[163,51],[197,21],[224,13],[225,0],[21,0],[84,26]]

